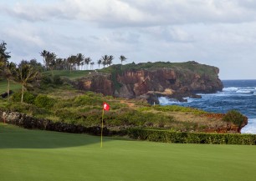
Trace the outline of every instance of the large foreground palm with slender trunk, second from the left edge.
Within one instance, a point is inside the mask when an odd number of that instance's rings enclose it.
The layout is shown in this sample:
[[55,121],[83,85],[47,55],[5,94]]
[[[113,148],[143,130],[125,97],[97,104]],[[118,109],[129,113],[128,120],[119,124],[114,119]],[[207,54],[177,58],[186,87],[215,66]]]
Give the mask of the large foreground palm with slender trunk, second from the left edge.
[[15,82],[22,84],[22,98],[23,103],[24,89],[28,85],[31,85],[34,80],[39,77],[39,73],[36,69],[32,68],[29,64],[23,64],[13,72],[13,79]]

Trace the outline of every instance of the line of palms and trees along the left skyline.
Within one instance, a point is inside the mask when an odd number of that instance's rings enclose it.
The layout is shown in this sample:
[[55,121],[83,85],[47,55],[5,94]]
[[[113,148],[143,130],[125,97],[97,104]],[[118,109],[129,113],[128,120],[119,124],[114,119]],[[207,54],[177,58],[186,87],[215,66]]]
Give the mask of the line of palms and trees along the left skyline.
[[[40,78],[40,72],[51,71],[53,75],[54,70],[80,70],[80,69],[90,69],[92,70],[95,63],[90,57],[85,58],[82,53],[77,53],[76,55],[70,55],[68,58],[58,58],[55,53],[49,51],[42,51],[40,55],[44,58],[44,65],[38,63],[36,59],[30,61],[22,60],[18,65],[16,63],[8,61],[11,58],[10,52],[6,48],[7,43],[4,41],[0,43],[0,76],[8,81],[8,101],[10,93],[10,81],[20,83],[22,85],[22,97],[21,102],[23,103],[23,93],[26,87],[31,85],[34,81]],[[124,55],[120,55],[121,66],[126,60]],[[114,56],[104,55],[98,61],[97,64],[105,66],[110,66],[113,63]]]

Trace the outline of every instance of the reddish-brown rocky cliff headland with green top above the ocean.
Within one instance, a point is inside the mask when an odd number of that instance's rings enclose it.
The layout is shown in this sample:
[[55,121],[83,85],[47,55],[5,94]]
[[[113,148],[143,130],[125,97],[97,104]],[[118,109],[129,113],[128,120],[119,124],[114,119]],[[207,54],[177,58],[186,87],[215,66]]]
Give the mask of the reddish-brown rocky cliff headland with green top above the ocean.
[[113,65],[80,78],[74,85],[85,91],[120,98],[146,98],[158,103],[157,96],[184,101],[195,93],[215,93],[223,89],[219,69],[196,63],[131,63]]

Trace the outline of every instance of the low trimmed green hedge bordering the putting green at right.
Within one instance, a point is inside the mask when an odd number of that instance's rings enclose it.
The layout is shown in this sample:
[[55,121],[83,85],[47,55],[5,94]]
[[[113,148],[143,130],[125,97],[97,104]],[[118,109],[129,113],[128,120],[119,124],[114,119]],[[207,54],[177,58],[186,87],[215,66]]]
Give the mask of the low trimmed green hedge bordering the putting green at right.
[[181,133],[166,130],[131,128],[131,138],[163,143],[247,144],[256,145],[256,134]]

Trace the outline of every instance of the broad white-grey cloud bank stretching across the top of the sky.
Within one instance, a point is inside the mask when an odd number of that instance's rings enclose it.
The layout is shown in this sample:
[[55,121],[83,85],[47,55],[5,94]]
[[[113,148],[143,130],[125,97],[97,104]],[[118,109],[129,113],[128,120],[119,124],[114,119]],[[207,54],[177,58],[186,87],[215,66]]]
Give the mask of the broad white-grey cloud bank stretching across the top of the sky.
[[65,0],[1,7],[27,21],[78,20],[102,27],[153,27],[187,23],[244,23],[256,20],[253,1]]

